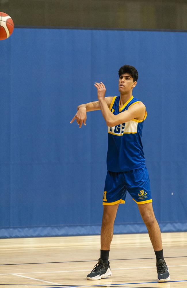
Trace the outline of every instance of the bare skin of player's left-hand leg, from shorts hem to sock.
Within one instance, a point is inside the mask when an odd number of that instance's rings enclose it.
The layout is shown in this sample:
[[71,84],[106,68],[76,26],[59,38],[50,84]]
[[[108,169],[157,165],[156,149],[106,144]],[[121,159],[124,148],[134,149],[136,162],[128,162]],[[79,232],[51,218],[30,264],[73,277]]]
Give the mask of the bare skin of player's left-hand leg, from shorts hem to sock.
[[114,221],[119,204],[103,205],[103,218],[101,226],[101,250],[110,250],[113,237]]

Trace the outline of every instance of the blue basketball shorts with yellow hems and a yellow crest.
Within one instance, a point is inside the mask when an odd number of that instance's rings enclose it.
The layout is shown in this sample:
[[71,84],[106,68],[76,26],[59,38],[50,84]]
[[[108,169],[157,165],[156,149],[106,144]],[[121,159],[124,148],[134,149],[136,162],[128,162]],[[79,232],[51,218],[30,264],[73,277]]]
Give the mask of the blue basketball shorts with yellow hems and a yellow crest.
[[127,191],[137,204],[152,202],[146,167],[127,172],[107,172],[103,205],[125,203]]

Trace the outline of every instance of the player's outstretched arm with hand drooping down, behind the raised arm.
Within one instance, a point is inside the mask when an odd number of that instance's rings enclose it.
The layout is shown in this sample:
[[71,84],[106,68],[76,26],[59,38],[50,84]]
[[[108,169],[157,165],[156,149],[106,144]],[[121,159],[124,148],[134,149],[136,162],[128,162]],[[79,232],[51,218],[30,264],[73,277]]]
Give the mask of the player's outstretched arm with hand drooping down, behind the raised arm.
[[[110,97],[110,96],[105,97],[108,108],[110,107],[110,104],[113,98],[114,97]],[[73,121],[76,119],[77,124],[79,125],[79,128],[81,128],[82,124],[86,125],[86,112],[100,110],[100,109],[101,108],[100,108],[99,101],[81,104],[77,106],[77,113],[75,114],[73,119],[70,121],[70,123],[73,123]]]

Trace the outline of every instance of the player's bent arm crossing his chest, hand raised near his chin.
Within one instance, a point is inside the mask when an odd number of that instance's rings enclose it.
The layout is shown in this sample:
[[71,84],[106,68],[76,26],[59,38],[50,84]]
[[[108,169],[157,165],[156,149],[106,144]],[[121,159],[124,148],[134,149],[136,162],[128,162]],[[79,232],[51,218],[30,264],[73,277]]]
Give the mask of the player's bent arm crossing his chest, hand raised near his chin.
[[94,86],[98,90],[98,100],[100,103],[102,115],[104,117],[104,120],[106,121],[107,126],[114,127],[121,123],[128,122],[132,119],[138,119],[138,120],[144,119],[146,107],[142,102],[133,104],[131,107],[129,107],[127,111],[114,115],[108,108],[108,105],[106,104],[104,98],[106,92],[104,84],[102,82],[95,83]]

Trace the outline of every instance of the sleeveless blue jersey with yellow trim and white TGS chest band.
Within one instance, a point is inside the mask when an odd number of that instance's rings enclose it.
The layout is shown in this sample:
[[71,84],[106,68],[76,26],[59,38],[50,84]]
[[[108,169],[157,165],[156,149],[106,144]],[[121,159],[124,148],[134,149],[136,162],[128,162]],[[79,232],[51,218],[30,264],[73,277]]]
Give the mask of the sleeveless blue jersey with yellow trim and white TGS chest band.
[[[110,105],[110,111],[117,115],[126,111],[131,105],[140,100],[131,98],[120,107],[120,96],[115,96]],[[125,172],[145,167],[142,146],[143,120],[132,119],[114,127],[108,127],[107,169],[112,172]]]

